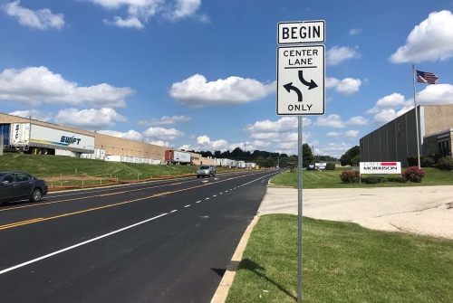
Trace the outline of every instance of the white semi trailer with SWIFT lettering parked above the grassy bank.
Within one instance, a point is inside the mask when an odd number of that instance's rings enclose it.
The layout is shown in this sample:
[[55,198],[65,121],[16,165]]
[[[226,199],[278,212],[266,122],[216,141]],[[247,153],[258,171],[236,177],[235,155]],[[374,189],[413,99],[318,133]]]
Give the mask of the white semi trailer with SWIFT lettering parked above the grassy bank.
[[1,131],[9,133],[9,140],[4,141],[7,149],[45,155],[63,155],[63,150],[74,155],[94,153],[94,137],[72,131],[33,123],[2,124]]

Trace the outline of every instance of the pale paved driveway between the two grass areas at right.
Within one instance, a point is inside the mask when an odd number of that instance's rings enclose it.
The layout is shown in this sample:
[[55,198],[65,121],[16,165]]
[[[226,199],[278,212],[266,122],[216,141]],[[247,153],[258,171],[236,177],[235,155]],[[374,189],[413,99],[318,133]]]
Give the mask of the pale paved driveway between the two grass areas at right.
[[[304,216],[453,239],[453,185],[305,189]],[[258,214],[297,214],[297,189],[268,187]]]

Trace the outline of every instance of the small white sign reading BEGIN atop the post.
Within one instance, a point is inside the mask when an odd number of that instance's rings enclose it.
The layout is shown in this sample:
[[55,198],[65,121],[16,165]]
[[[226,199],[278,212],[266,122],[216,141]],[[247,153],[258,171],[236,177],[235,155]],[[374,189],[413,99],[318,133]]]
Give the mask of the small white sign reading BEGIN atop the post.
[[278,44],[324,43],[323,20],[278,23]]

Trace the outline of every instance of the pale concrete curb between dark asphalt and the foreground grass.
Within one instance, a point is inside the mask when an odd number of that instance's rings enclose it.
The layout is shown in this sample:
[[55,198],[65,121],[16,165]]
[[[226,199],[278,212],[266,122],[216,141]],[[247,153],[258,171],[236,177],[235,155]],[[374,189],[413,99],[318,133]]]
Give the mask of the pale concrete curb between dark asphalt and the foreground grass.
[[246,232],[244,232],[241,241],[239,241],[236,251],[233,254],[233,258],[230,261],[230,265],[225,271],[224,277],[220,281],[214,297],[211,299],[211,303],[224,303],[226,301],[228,291],[233,284],[233,280],[235,279],[237,267],[242,260],[242,254],[246,250],[248,239],[250,239],[250,234],[252,233],[255,224],[258,222],[259,217],[259,214],[255,215],[254,220],[248,225]]

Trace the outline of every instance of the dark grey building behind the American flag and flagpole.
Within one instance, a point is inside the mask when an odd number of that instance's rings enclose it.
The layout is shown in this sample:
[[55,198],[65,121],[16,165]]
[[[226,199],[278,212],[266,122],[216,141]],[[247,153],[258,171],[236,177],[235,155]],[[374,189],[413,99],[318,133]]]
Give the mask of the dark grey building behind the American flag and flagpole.
[[[420,105],[420,155],[451,156],[453,105]],[[417,156],[415,109],[361,137],[361,162],[396,161],[408,166],[408,156]]]

